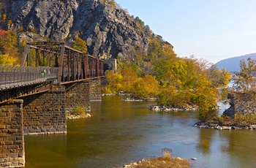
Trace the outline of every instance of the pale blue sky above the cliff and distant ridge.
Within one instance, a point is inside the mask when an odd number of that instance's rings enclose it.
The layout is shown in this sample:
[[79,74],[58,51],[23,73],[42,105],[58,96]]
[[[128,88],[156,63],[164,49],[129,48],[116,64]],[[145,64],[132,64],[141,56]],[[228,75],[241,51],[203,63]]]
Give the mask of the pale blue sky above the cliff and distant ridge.
[[116,0],[178,56],[225,58],[256,53],[256,0]]

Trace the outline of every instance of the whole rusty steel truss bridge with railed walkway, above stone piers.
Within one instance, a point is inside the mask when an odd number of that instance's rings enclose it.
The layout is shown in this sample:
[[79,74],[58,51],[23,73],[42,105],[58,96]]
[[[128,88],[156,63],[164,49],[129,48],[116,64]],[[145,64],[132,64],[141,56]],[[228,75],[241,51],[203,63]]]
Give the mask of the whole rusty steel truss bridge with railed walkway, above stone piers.
[[64,42],[28,42],[20,66],[0,65],[0,103],[20,96],[104,77],[104,61],[64,45]]

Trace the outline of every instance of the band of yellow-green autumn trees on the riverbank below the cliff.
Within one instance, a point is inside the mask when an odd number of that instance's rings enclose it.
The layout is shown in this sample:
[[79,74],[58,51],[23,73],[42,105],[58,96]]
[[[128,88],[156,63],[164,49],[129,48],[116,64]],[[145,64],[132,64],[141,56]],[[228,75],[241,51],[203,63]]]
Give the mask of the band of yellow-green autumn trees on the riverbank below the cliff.
[[178,58],[173,46],[162,38],[149,38],[148,53],[135,50],[131,58],[118,58],[115,73],[106,72],[105,93],[125,91],[138,98],[158,97],[159,105],[197,105],[199,119],[209,121],[216,116],[219,87],[230,83],[231,74],[225,69],[194,56]]

